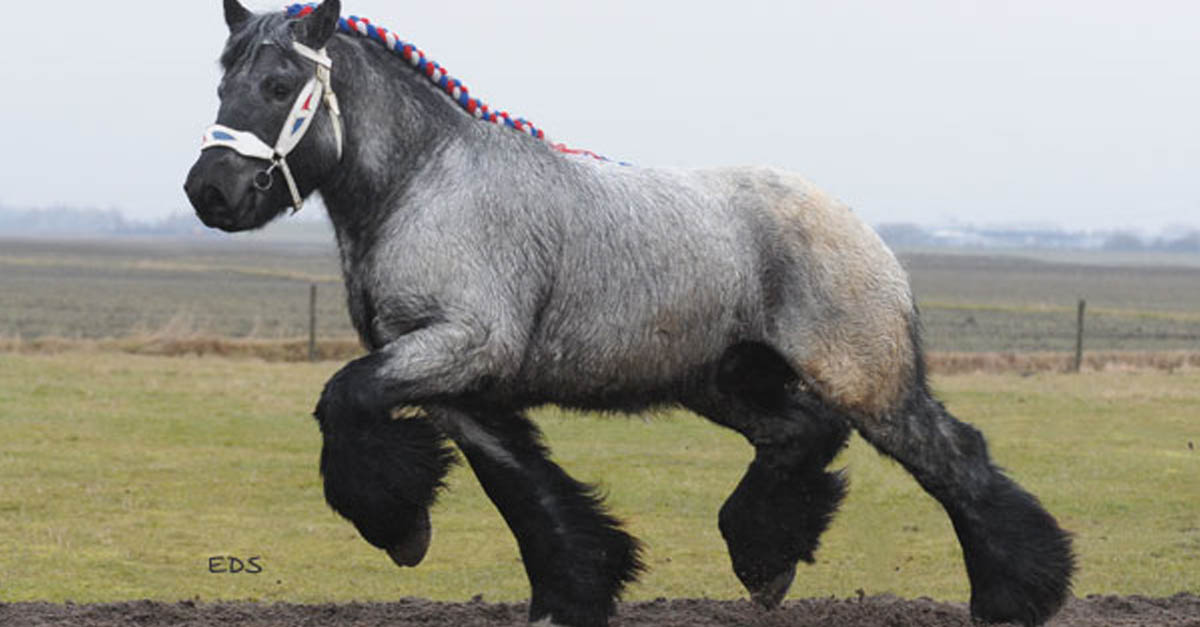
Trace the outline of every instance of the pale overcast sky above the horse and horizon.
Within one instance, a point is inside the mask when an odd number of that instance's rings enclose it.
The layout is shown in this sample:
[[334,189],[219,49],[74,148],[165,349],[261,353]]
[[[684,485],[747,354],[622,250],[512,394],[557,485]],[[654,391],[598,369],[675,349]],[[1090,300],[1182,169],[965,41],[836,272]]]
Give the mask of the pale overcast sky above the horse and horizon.
[[[190,213],[221,1],[22,5],[0,37],[0,207]],[[1195,0],[343,7],[556,141],[638,165],[796,171],[871,223],[1200,225]]]

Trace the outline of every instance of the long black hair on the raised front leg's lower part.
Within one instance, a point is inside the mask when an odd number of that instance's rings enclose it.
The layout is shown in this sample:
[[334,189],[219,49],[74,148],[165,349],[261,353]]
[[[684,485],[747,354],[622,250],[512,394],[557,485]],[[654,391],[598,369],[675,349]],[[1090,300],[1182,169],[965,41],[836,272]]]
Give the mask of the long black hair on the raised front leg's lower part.
[[317,404],[325,501],[397,565],[416,566],[430,544],[428,508],[455,455],[430,420],[391,416],[366,376],[367,359],[338,371]]

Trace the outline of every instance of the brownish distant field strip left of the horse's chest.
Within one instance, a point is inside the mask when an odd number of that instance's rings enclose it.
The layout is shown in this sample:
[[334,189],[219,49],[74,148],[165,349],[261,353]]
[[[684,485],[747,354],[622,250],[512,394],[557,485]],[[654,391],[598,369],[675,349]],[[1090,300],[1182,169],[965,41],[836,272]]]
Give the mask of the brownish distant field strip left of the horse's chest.
[[0,240],[0,335],[350,336],[332,245]]

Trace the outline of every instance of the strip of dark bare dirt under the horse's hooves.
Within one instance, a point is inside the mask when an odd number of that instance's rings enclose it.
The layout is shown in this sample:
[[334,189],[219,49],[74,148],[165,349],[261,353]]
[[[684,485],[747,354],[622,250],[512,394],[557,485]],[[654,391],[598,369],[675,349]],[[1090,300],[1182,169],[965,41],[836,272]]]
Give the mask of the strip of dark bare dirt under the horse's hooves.
[[[0,626],[55,627],[244,627],[430,626],[492,627],[526,622],[523,603],[395,603],[324,605],[258,603],[156,603],[149,601],[83,605],[0,603]],[[746,601],[658,599],[620,605],[612,627],[967,627],[962,604],[895,597],[790,601],[762,611]],[[1072,601],[1049,623],[1054,627],[1156,626],[1200,627],[1200,597],[1169,598],[1090,596]]]

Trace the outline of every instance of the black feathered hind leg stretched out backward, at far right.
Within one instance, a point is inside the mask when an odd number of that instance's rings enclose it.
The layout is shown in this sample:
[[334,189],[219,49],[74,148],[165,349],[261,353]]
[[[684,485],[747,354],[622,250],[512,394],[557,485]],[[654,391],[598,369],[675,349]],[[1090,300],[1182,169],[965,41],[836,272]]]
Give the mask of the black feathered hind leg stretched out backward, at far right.
[[1069,535],[992,465],[978,430],[950,416],[923,381],[914,388],[900,411],[854,418],[854,426],[946,508],[971,579],[972,616],[1045,622],[1070,589]]

